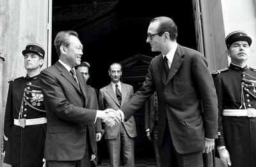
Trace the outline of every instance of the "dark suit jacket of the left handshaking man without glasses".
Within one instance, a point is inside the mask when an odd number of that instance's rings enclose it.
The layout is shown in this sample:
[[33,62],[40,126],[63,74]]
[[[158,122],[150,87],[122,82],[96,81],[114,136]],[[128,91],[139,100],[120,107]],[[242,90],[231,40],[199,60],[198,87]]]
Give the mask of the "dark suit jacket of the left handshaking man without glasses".
[[40,73],[47,114],[46,160],[76,161],[84,156],[86,125],[94,124],[96,110],[86,109],[86,83],[81,73],[76,74],[80,88],[60,62]]

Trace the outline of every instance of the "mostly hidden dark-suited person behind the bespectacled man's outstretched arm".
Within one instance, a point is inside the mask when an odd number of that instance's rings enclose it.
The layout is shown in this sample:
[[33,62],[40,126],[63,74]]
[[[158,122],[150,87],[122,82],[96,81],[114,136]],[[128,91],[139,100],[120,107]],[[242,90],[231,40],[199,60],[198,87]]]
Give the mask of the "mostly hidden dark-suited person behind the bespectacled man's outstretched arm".
[[157,167],[161,166],[159,150],[157,144],[157,133],[158,133],[158,100],[157,93],[155,92],[150,98],[145,102],[145,114],[144,122],[146,135],[150,141],[153,143],[154,152],[156,156]]

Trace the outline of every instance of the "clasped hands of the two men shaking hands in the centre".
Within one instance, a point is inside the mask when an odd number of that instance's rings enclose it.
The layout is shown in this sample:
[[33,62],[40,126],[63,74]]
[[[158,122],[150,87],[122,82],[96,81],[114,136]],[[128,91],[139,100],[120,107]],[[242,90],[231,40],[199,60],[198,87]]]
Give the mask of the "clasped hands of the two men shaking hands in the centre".
[[116,126],[120,122],[122,122],[122,115],[120,112],[113,110],[112,108],[108,108],[106,110],[97,111],[99,114],[99,118],[108,126]]

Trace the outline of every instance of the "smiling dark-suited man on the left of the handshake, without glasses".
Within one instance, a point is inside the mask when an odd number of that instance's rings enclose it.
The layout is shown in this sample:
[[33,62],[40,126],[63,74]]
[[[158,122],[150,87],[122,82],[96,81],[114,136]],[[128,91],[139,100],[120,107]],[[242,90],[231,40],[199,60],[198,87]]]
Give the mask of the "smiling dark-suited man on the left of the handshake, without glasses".
[[47,166],[90,166],[92,146],[88,126],[97,118],[118,124],[114,110],[90,109],[83,75],[74,69],[81,62],[83,45],[75,31],[61,31],[54,40],[58,62],[40,73],[47,113],[45,159]]

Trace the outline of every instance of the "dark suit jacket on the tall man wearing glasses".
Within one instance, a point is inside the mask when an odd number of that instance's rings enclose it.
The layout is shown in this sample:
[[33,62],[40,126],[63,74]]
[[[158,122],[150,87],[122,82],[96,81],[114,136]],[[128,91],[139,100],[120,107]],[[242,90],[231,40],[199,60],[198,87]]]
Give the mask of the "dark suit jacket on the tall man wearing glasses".
[[143,86],[120,108],[125,118],[131,117],[154,91],[158,97],[160,146],[166,121],[180,154],[202,151],[205,137],[217,138],[217,97],[207,61],[200,52],[178,45],[167,77],[163,55],[152,59]]

